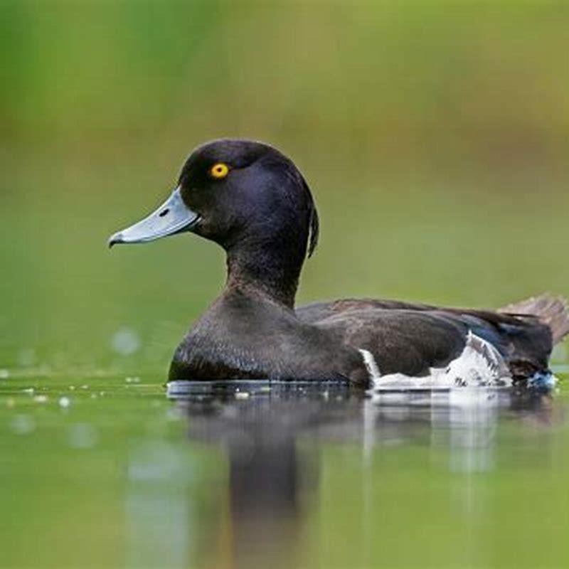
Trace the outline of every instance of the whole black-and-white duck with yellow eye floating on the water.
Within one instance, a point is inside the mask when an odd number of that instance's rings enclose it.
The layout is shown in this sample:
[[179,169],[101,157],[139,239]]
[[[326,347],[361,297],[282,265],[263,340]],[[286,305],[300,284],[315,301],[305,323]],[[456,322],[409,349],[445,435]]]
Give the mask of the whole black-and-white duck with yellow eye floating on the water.
[[197,147],[169,198],[108,244],[181,233],[220,245],[227,278],[174,352],[169,381],[528,385],[551,377],[551,351],[569,332],[566,302],[551,294],[497,310],[371,298],[296,307],[319,216],[302,173],[270,144]]

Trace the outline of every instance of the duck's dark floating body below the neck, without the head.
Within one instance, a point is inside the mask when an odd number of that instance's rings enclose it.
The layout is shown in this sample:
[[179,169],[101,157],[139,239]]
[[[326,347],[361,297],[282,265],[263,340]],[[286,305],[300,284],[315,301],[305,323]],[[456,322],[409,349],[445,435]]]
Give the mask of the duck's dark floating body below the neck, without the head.
[[508,376],[523,381],[548,368],[553,336],[538,313],[559,316],[564,305],[540,297],[531,306],[532,316],[376,299],[292,310],[231,289],[188,332],[169,378],[347,380],[362,386],[393,374],[427,378],[459,361],[474,336],[482,350],[496,349],[496,370],[472,369],[450,383],[475,378],[477,385],[503,385]]

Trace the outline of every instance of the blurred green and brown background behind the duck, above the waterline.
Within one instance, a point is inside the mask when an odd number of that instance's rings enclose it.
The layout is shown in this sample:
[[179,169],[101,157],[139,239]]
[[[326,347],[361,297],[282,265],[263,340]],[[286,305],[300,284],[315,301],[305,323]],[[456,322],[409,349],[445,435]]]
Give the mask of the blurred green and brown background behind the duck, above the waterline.
[[[3,0],[0,16],[5,368],[164,373],[222,252],[105,241],[216,137],[270,142],[306,174],[322,229],[299,302],[569,294],[565,2]],[[112,349],[123,329],[136,358]]]

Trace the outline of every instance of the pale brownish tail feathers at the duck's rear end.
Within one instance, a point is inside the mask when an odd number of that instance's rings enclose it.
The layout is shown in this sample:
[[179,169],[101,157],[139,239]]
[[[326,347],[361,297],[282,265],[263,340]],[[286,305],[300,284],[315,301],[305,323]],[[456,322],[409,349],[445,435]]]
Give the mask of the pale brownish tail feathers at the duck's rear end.
[[567,301],[563,297],[552,294],[541,294],[521,302],[508,304],[498,312],[511,316],[533,316],[549,326],[553,336],[553,344],[558,344],[569,334],[569,312]]

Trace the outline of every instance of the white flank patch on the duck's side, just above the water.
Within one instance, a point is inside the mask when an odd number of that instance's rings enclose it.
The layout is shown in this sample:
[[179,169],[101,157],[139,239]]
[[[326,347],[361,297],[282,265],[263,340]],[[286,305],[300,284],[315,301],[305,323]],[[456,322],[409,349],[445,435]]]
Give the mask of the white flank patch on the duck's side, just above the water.
[[423,377],[390,373],[382,376],[373,355],[360,350],[373,387],[371,390],[437,389],[458,387],[509,387],[511,376],[499,351],[469,331],[464,350],[445,368],[430,368]]

